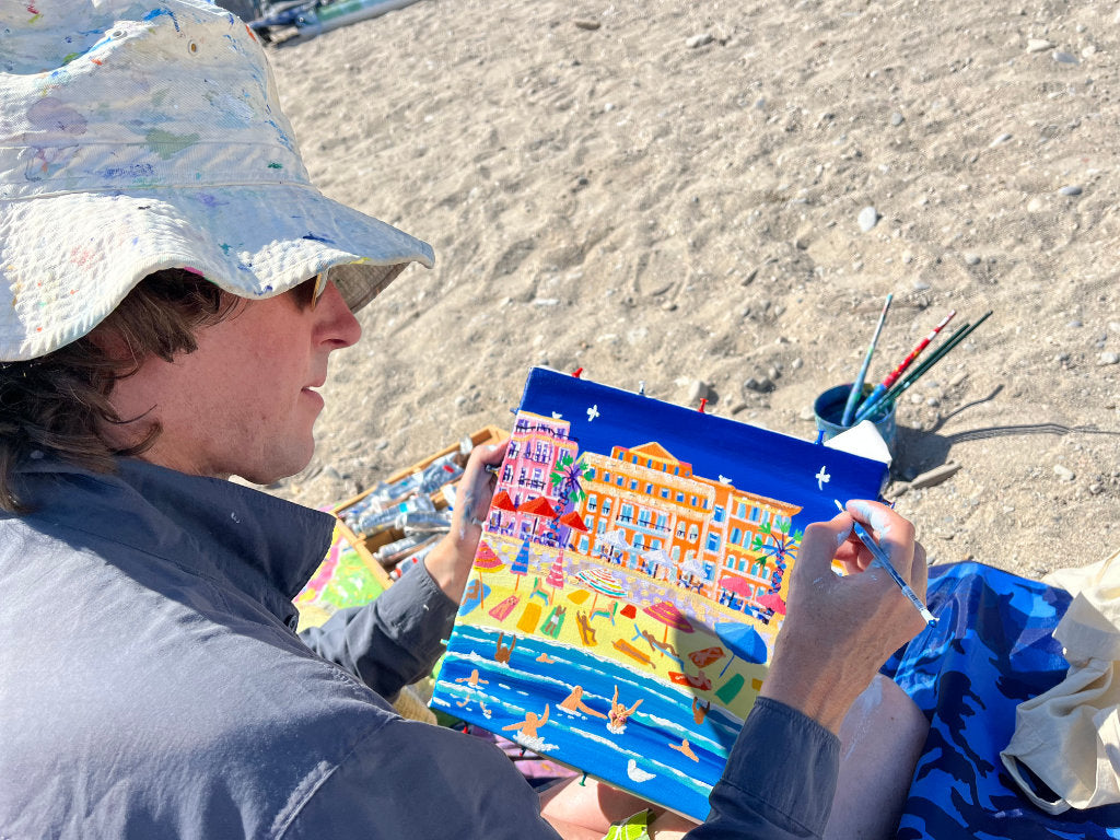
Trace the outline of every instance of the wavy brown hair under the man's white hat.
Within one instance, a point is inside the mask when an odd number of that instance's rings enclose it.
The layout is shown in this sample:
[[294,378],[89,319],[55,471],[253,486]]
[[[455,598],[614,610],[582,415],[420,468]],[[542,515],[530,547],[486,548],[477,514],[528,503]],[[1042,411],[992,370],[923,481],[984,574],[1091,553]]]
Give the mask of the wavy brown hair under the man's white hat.
[[114,456],[148,449],[159,436],[157,423],[123,449],[102,437],[106,423],[140,419],[118,417],[109,402],[114,383],[134,374],[150,356],[170,362],[193,353],[196,330],[217,324],[236,302],[200,274],[157,271],[88,335],[40,358],[0,363],[0,510],[26,512],[15,476],[27,460],[41,457],[36,452],[111,473]]

